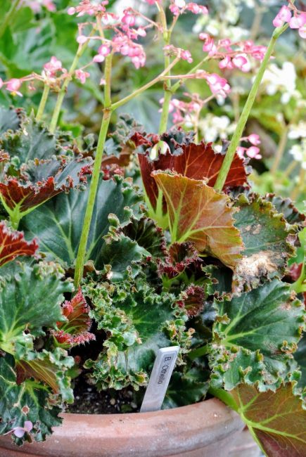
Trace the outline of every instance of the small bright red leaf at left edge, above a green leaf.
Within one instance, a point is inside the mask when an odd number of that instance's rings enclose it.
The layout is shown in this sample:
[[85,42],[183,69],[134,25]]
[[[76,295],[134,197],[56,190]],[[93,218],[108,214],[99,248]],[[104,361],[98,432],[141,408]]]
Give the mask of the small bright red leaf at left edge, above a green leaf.
[[11,231],[4,221],[0,222],[0,266],[20,255],[34,256],[37,249],[35,239],[27,243],[22,232]]

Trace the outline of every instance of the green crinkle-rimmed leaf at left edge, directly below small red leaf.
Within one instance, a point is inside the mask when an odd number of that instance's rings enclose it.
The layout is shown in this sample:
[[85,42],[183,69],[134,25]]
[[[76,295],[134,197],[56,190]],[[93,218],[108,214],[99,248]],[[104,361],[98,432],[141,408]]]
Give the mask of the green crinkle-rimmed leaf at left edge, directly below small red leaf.
[[63,321],[60,303],[71,290],[61,281],[55,264],[24,265],[20,273],[0,283],[0,348],[15,356],[32,347],[32,339],[44,335],[44,327]]

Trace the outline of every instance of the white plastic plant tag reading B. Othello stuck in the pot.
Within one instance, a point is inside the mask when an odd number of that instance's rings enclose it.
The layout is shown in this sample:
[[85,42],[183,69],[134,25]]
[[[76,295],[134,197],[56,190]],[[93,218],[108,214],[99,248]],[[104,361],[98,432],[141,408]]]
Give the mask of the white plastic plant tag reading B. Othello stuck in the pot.
[[162,406],[174,369],[179,346],[158,349],[140,412],[158,411]]

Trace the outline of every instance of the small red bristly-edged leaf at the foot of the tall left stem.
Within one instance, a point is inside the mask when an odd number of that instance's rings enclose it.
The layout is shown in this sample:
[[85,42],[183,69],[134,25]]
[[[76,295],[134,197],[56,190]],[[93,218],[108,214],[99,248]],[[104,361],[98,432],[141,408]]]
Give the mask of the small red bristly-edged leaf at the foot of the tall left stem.
[[52,331],[52,335],[62,345],[80,345],[81,343],[95,340],[94,333],[89,332],[91,319],[88,316],[89,307],[79,289],[71,301],[66,300],[62,305],[63,316],[66,322],[58,322],[59,330]]

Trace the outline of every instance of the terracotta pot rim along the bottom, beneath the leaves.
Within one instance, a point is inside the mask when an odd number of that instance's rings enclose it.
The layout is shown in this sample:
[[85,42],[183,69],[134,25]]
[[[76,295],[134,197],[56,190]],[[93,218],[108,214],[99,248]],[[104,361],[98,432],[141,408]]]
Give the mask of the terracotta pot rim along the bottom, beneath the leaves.
[[1,457],[227,457],[243,430],[217,399],[153,413],[63,414],[46,442],[18,448],[0,438]]

